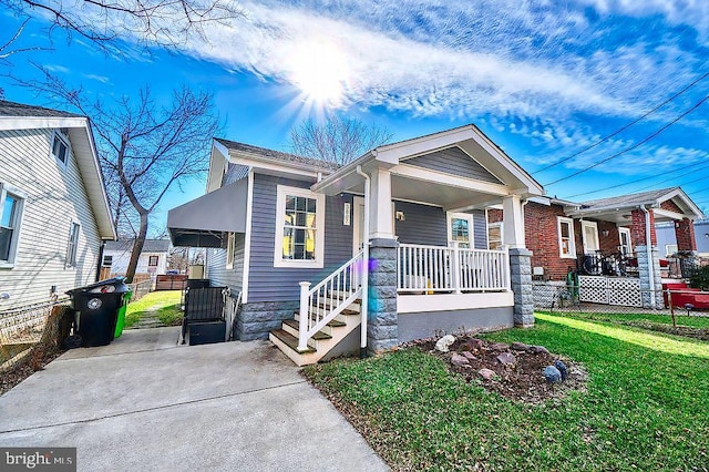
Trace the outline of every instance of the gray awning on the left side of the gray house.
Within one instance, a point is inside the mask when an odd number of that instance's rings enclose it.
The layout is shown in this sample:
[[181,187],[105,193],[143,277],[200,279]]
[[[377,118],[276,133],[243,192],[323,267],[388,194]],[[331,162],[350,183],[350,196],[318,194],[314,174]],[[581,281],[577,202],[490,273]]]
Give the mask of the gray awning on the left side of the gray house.
[[167,212],[174,246],[223,247],[226,233],[246,233],[248,181],[243,178]]

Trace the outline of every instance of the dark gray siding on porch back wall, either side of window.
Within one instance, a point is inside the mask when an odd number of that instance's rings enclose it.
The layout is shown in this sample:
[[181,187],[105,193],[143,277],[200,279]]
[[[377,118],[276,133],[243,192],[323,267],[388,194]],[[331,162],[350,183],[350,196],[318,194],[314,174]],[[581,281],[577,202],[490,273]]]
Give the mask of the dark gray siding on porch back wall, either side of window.
[[[448,216],[438,206],[395,202],[397,212],[403,212],[405,219],[395,222],[394,234],[399,243],[448,246]],[[476,249],[487,248],[487,224],[485,212],[473,211],[473,240]]]

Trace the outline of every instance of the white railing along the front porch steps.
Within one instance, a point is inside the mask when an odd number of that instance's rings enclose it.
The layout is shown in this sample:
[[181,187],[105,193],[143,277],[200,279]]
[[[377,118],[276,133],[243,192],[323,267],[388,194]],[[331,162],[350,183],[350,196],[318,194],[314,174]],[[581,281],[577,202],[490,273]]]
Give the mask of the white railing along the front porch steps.
[[360,252],[315,287],[300,283],[299,351],[307,350],[308,339],[362,295],[364,274],[364,252]]

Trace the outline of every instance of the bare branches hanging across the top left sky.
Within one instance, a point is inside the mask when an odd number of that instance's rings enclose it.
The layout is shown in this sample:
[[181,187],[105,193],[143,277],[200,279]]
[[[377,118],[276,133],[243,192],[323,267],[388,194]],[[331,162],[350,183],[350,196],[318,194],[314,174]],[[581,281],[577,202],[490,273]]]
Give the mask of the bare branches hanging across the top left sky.
[[[177,47],[204,27],[244,17],[233,0],[0,0],[18,18],[42,16],[54,28],[104,48],[130,35],[143,45]],[[20,31],[21,32],[21,31]]]

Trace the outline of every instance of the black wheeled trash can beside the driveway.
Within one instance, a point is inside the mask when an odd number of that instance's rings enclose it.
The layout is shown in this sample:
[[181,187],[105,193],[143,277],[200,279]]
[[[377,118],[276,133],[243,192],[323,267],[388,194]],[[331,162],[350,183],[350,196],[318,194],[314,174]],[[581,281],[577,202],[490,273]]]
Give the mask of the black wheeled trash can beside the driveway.
[[66,293],[76,312],[83,347],[106,346],[113,340],[119,310],[125,304],[123,295],[129,291],[123,280],[110,278]]

